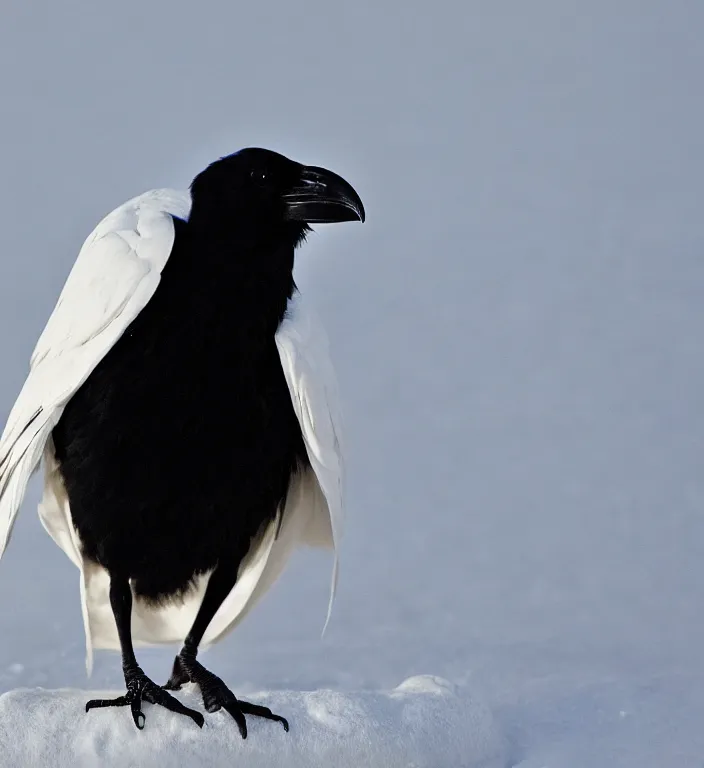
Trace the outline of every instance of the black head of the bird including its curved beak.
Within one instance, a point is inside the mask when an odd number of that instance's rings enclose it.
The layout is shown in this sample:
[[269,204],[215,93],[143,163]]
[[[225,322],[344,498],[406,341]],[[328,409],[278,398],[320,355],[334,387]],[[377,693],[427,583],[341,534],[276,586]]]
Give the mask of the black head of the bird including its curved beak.
[[209,165],[191,185],[193,214],[207,208],[211,223],[298,233],[309,224],[364,221],[352,186],[332,171],[301,165],[267,149],[242,149]]

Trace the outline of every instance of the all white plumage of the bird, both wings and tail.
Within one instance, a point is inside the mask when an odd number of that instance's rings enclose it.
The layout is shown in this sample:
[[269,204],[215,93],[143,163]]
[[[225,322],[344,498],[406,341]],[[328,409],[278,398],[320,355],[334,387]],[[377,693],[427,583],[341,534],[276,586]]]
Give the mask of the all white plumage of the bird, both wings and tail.
[[[27,483],[44,458],[41,521],[78,566],[90,669],[93,648],[119,648],[108,595],[109,577],[85,560],[68,496],[54,459],[51,433],[63,409],[96,365],[154,295],[174,242],[172,216],[187,219],[188,193],[153,190],[106,216],[86,239],[59,301],[32,354],[27,380],[0,438],[0,556]],[[235,587],[203,638],[219,640],[276,581],[299,544],[340,543],[344,468],[340,413],[327,340],[300,296],[277,334],[281,365],[301,424],[311,469],[295,478],[277,520],[252,542]],[[135,645],[184,639],[209,575],[179,602],[155,608],[135,600]],[[337,554],[328,607],[337,581]],[[327,622],[326,622],[327,623]]]

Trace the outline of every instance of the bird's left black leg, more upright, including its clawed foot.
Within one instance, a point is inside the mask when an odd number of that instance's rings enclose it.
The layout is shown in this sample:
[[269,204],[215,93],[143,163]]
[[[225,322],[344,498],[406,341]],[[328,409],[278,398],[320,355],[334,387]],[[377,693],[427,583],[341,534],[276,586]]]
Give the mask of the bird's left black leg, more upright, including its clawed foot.
[[150,704],[160,704],[179,715],[187,715],[202,728],[204,718],[200,712],[185,707],[178,699],[166,693],[163,688],[152,682],[137,664],[132,647],[132,590],[128,579],[111,575],[110,605],[117,624],[117,634],[120,638],[122,671],[125,675],[127,693],[116,699],[92,699],[86,704],[86,712],[99,707],[129,706],[132,710],[134,724],[141,730],[144,728],[142,701],[148,701]]

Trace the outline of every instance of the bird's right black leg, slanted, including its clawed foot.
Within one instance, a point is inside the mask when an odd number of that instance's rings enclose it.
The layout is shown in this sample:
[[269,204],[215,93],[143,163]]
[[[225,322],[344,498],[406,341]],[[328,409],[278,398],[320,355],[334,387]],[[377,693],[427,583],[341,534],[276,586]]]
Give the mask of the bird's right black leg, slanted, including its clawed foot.
[[178,690],[183,683],[192,682],[199,688],[203,696],[203,704],[208,712],[225,709],[237,723],[242,738],[247,738],[247,722],[245,715],[255,715],[267,720],[276,720],[288,731],[288,721],[280,715],[275,715],[268,707],[250,704],[237,699],[235,694],[223,681],[209,672],[200,662],[196,661],[198,645],[203,639],[205,630],[210,624],[223,600],[237,580],[237,568],[219,565],[213,572],[203,596],[203,602],[198,610],[193,626],[188,633],[181,652],[174,660],[174,668],[164,688]]

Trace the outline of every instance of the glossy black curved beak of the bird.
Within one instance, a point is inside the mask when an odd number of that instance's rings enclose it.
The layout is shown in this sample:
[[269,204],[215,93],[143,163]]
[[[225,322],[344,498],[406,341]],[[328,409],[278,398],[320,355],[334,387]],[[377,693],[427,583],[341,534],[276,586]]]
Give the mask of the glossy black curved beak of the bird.
[[325,168],[304,165],[299,183],[283,195],[283,200],[286,216],[292,221],[364,221],[364,205],[352,185]]

